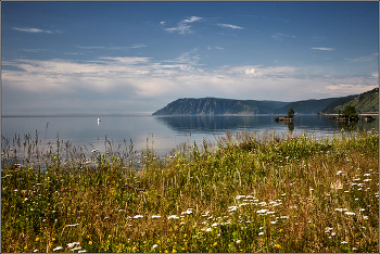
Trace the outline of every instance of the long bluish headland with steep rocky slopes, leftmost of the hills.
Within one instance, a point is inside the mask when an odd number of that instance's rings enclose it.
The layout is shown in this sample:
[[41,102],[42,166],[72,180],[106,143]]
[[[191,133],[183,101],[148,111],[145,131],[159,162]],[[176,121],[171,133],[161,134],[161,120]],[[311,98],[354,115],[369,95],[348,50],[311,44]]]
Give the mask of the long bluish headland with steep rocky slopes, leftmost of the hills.
[[185,98],[170,102],[163,109],[154,112],[153,115],[270,114],[286,104],[288,102]]

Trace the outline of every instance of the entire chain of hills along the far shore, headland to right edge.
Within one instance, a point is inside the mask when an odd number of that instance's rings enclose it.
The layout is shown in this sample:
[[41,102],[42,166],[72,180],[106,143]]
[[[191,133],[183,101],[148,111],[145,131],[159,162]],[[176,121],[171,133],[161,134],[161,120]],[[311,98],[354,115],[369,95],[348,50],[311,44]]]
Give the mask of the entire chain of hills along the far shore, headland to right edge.
[[337,114],[346,105],[355,105],[358,113],[379,112],[379,88],[362,94],[295,102],[185,98],[170,102],[153,115],[288,114],[290,107],[297,114]]

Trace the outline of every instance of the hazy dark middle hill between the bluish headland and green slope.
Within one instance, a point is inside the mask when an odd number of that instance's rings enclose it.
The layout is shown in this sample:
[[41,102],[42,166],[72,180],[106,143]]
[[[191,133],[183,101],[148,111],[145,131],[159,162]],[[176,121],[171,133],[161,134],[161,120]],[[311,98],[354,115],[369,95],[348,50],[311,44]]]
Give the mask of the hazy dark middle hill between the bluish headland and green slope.
[[320,100],[306,100],[306,101],[294,101],[286,104],[284,106],[276,110],[275,114],[288,114],[290,107],[293,107],[295,113],[299,114],[317,114],[324,110],[330,103],[337,101],[340,98],[328,98]]

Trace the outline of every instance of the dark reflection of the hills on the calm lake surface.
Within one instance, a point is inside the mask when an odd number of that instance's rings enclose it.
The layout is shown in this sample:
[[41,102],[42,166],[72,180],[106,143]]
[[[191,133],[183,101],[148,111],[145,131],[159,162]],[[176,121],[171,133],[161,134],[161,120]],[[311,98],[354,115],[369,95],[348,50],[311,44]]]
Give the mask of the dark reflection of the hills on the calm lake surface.
[[341,129],[363,131],[373,128],[379,130],[379,119],[371,123],[342,123],[330,120],[321,115],[297,115],[293,123],[276,123],[276,116],[157,116],[155,119],[169,129],[186,134],[223,134],[225,130],[240,131],[275,129],[278,131],[307,130],[316,132],[340,132]]

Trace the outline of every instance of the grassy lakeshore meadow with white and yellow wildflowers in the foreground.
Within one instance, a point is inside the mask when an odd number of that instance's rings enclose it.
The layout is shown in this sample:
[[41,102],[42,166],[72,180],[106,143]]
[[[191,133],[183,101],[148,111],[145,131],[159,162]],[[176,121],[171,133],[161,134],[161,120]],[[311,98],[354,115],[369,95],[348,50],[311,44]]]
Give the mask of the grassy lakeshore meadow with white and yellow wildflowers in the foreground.
[[373,131],[227,132],[165,158],[49,145],[2,152],[2,252],[379,251]]

